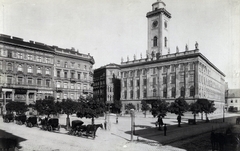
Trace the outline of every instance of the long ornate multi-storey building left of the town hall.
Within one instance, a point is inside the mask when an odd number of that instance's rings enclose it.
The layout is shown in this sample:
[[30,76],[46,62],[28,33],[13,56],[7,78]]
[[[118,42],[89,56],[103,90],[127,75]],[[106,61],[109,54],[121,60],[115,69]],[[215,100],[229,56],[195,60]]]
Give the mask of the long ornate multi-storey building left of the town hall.
[[55,100],[92,94],[94,59],[22,38],[0,35],[0,103],[27,104],[53,96]]

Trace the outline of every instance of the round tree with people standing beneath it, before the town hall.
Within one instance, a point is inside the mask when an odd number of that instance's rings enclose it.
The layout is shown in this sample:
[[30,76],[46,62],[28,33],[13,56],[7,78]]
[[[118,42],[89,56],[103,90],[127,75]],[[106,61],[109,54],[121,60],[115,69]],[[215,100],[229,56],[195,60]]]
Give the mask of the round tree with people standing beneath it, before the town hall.
[[151,112],[154,117],[160,115],[162,117],[167,115],[168,105],[165,100],[157,100],[152,103]]

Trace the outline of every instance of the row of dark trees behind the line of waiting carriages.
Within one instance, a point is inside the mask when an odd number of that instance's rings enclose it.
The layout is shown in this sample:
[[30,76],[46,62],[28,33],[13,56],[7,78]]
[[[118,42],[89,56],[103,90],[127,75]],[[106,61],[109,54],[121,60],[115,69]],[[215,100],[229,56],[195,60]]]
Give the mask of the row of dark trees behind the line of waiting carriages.
[[71,99],[62,100],[61,102],[55,102],[54,97],[48,97],[44,100],[37,100],[35,104],[30,104],[29,106],[25,102],[9,102],[6,105],[6,109],[9,112],[16,112],[16,114],[23,114],[28,111],[28,107],[32,107],[37,110],[39,115],[50,115],[54,114],[66,114],[66,126],[70,126],[69,115],[77,114],[78,117],[86,117],[92,119],[92,124],[94,124],[94,118],[103,115],[106,111],[106,105],[103,101],[96,101],[91,96],[86,98],[80,97],[78,101],[73,101]]

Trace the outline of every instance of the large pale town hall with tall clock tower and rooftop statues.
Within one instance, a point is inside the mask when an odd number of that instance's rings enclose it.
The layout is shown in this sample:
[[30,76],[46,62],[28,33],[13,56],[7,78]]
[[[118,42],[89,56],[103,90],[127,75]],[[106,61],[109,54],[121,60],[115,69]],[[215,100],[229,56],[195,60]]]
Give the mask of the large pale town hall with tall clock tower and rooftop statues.
[[[162,1],[152,4],[148,19],[146,58],[121,62],[121,100],[141,110],[141,100],[174,101],[184,97],[188,103],[203,98],[214,101],[215,115],[224,107],[225,75],[195,48],[175,53],[169,50],[171,14]],[[165,53],[165,54],[164,54]]]

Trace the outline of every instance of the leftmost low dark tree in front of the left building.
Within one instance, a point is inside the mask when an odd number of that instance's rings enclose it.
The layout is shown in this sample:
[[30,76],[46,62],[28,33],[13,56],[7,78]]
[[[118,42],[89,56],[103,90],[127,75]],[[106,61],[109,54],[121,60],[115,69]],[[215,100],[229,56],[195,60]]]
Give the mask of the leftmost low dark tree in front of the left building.
[[23,114],[28,111],[28,105],[25,102],[9,102],[6,104],[6,110],[10,113],[16,112],[16,114]]

